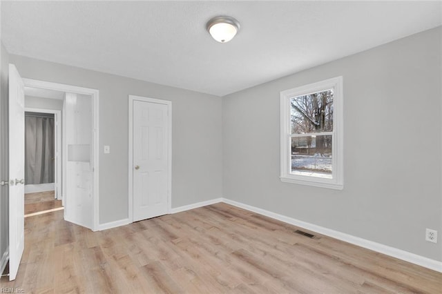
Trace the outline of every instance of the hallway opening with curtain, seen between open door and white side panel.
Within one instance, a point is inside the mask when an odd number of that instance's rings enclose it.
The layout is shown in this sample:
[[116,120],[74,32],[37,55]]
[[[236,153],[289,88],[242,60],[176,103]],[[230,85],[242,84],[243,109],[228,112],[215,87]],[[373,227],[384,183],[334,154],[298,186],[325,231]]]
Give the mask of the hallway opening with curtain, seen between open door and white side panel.
[[[25,87],[25,217],[64,209],[61,196],[62,99]],[[60,92],[61,98],[63,93]],[[57,93],[55,92],[55,95]],[[29,108],[48,106],[51,108]]]

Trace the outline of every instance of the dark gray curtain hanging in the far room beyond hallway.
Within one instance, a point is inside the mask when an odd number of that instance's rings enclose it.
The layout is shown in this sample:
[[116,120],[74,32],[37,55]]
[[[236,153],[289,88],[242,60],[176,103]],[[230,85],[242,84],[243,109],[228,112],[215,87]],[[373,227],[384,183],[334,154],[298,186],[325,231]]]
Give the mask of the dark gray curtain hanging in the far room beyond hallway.
[[25,184],[54,182],[54,118],[25,116]]

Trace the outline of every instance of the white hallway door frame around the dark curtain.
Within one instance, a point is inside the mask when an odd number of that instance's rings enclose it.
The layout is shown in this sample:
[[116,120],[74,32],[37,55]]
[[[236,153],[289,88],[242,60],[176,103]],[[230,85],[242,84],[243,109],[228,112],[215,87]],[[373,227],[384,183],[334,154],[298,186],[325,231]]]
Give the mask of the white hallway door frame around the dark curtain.
[[[55,189],[55,198],[61,200],[61,161],[63,160],[63,155],[61,153],[61,110],[53,110],[53,109],[47,109],[47,108],[28,108],[26,107],[26,101],[25,101],[25,111],[26,112],[39,112],[39,113],[50,113],[54,115],[54,127],[57,126],[57,132],[54,132],[54,142],[55,142],[55,150],[57,150],[57,155],[55,156],[55,166],[57,173],[55,174],[55,183],[54,183],[54,189]],[[26,117],[26,115],[25,115]]]

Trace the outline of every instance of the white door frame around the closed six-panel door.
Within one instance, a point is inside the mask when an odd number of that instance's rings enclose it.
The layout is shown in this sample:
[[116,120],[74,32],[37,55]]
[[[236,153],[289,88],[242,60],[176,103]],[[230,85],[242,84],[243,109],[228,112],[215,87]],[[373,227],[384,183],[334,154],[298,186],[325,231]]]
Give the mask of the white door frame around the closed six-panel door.
[[129,95],[129,163],[128,163],[128,216],[133,222],[133,101],[144,101],[168,106],[167,127],[169,137],[167,150],[168,183],[167,183],[167,213],[172,210],[172,101]]

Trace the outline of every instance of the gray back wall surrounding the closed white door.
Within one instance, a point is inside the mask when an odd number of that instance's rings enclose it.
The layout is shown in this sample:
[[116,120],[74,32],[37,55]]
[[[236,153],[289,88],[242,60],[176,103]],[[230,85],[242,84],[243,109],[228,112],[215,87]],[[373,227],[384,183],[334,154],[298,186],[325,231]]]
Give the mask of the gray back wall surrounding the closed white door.
[[222,196],[220,97],[17,55],[10,63],[22,77],[99,90],[100,224],[128,217],[128,95],[172,101],[172,207]]

